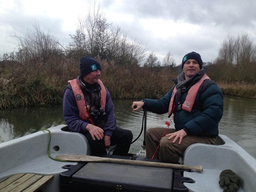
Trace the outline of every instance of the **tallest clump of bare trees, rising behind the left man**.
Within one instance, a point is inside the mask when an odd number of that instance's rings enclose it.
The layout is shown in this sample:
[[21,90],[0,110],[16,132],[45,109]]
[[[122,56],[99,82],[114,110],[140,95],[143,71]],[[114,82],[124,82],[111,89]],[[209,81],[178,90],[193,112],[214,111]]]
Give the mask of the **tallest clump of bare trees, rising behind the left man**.
[[69,44],[69,54],[76,58],[83,56],[81,54],[99,56],[125,67],[140,65],[145,58],[146,46],[142,41],[128,38],[127,34],[108,23],[100,6],[94,2],[92,11],[89,8],[87,16],[79,18],[76,35],[70,35],[73,42]]

